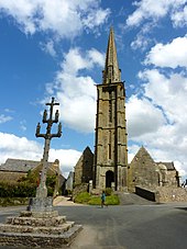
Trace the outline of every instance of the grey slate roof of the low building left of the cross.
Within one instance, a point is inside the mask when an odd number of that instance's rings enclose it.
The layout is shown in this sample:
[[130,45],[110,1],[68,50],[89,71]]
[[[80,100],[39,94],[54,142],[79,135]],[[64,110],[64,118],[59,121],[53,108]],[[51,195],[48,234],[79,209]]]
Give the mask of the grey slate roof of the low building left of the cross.
[[41,161],[8,158],[7,161],[0,166],[0,171],[28,172],[37,167],[40,162]]

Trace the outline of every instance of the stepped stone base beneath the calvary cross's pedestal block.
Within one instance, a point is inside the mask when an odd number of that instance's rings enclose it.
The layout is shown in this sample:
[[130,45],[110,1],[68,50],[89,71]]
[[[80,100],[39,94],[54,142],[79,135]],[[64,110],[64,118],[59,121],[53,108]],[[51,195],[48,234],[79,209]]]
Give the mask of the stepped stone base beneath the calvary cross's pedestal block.
[[21,212],[19,217],[8,217],[0,224],[0,246],[25,248],[61,248],[68,245],[81,225],[67,222],[58,212]]

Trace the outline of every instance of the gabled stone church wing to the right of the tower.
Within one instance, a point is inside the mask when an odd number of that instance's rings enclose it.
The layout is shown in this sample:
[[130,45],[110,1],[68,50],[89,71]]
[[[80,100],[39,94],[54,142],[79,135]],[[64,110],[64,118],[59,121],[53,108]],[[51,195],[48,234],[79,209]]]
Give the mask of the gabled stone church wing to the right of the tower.
[[157,186],[179,186],[178,172],[173,162],[155,162],[147,150],[141,147],[128,171],[128,188],[134,192],[135,186],[155,189]]

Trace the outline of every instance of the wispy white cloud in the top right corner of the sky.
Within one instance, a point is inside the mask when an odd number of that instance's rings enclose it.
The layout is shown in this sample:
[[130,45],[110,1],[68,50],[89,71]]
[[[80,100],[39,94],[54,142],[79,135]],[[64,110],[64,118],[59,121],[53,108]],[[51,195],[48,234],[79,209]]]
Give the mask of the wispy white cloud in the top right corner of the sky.
[[187,25],[187,0],[140,0],[133,1],[135,10],[125,21],[127,27],[140,27],[134,41],[131,43],[133,49],[144,50],[152,39],[151,32],[155,27],[161,30],[161,20],[168,18],[174,27]]

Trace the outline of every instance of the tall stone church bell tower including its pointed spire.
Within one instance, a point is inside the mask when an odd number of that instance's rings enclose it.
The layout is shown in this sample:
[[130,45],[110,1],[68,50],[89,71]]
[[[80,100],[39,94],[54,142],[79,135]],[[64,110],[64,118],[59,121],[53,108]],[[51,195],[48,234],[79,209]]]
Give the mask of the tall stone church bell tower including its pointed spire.
[[102,83],[97,84],[94,185],[96,189],[128,185],[125,89],[121,81],[113,29],[110,29]]

